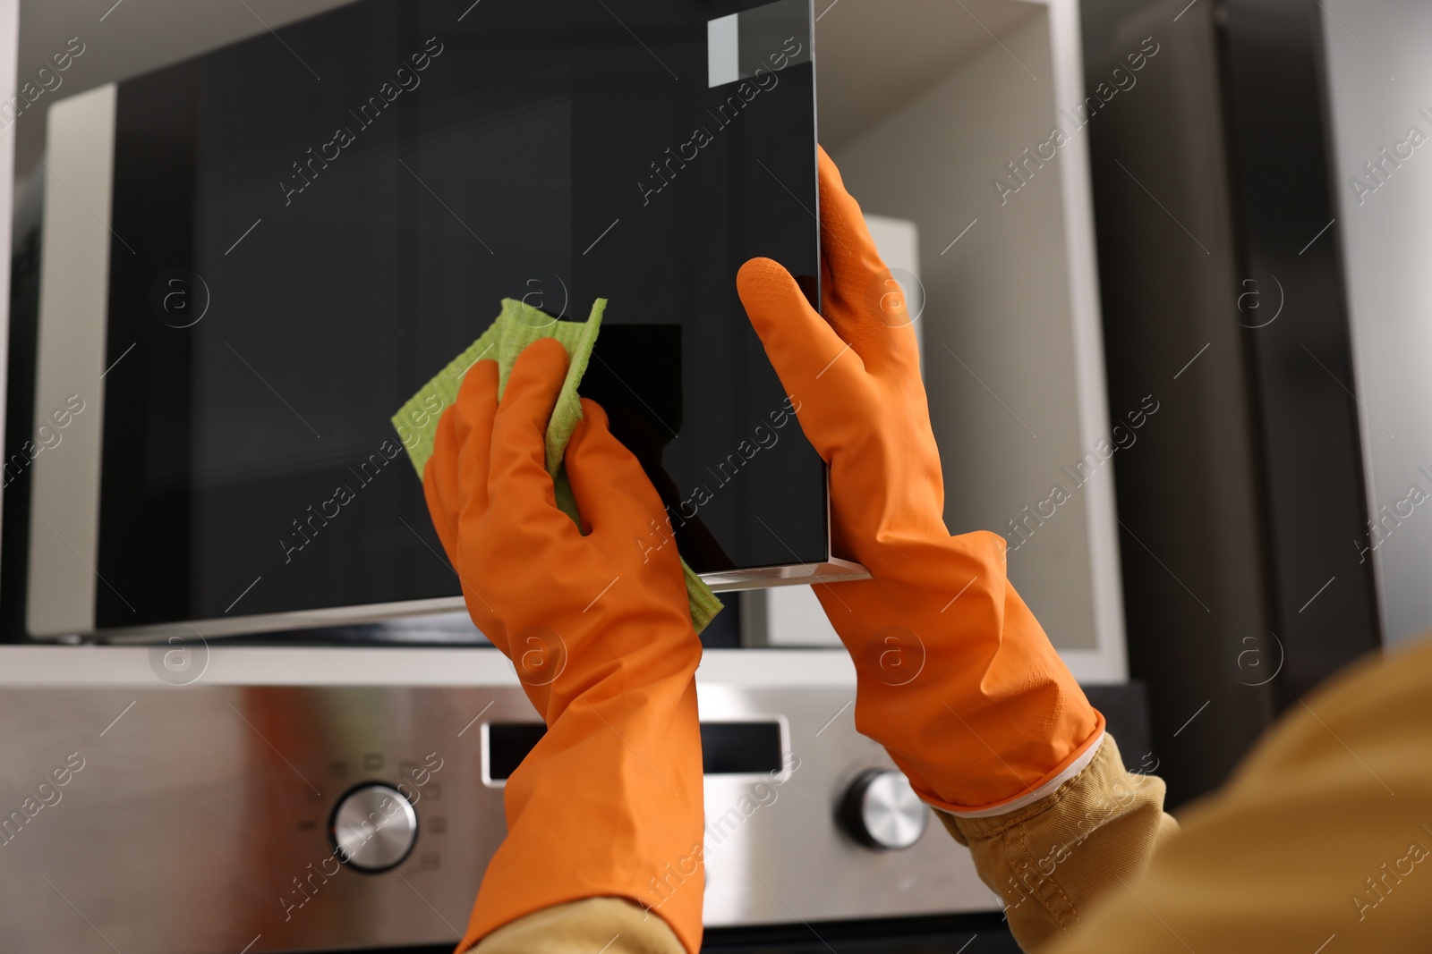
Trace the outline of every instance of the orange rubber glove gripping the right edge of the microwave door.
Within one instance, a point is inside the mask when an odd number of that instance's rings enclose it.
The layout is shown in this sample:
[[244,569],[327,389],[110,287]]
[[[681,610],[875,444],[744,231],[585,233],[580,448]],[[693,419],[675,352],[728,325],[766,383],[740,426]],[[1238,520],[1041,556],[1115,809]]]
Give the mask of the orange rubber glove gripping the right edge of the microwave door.
[[874,576],[815,586],[855,659],[855,725],[937,808],[1012,811],[1093,758],[1104,718],[1010,585],[1004,539],[945,529],[904,296],[825,150],[819,186],[825,318],[770,259],[736,287],[831,465],[833,549]]

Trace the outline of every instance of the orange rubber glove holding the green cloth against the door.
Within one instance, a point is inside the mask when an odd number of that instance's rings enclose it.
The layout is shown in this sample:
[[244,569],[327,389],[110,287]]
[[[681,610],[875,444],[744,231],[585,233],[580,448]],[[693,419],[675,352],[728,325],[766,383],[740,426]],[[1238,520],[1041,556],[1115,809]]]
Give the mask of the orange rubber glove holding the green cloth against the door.
[[[478,628],[516,664],[547,734],[507,781],[507,840],[487,867],[458,951],[541,908],[591,897],[656,911],[695,954],[702,938],[702,646],[674,546],[633,533],[663,515],[636,458],[581,402],[567,445],[590,533],[557,509],[543,435],[567,372],[551,339],[527,348],[497,398],[474,365],[438,423],[422,479],[432,523]],[[684,881],[654,894],[654,878]],[[696,874],[686,874],[689,864]]]

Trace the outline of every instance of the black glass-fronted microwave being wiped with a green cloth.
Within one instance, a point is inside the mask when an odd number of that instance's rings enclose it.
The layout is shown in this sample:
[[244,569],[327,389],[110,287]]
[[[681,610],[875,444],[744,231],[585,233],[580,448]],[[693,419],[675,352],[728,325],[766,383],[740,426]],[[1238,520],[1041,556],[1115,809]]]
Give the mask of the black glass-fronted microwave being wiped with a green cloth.
[[735,287],[819,276],[809,0],[361,0],[44,122],[11,638],[460,611],[390,416],[504,297],[607,299],[583,393],[713,589],[865,575]]

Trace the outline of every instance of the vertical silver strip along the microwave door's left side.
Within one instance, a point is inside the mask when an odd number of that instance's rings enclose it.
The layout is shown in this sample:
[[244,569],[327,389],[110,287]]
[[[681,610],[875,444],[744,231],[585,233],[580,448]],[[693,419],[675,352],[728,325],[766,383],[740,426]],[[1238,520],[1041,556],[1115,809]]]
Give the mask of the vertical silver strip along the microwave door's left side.
[[53,429],[49,416],[70,395],[84,408],[30,465],[26,614],[37,636],[95,626],[116,102],[110,83],[60,100],[47,114],[36,431]]

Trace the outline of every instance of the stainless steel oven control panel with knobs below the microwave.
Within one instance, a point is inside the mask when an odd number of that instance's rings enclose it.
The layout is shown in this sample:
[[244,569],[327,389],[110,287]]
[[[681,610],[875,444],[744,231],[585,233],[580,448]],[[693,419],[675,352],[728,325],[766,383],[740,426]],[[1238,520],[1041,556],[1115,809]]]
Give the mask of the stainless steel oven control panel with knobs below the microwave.
[[[505,831],[491,729],[537,722],[491,649],[4,654],[6,951],[453,941]],[[849,788],[892,768],[855,732],[842,651],[709,651],[697,684],[703,725],[769,724],[780,745],[779,771],[707,774],[707,924],[997,908],[941,825],[898,851],[842,827]],[[415,815],[411,850],[375,872],[331,841],[374,784]],[[660,891],[695,890],[672,861]]]

